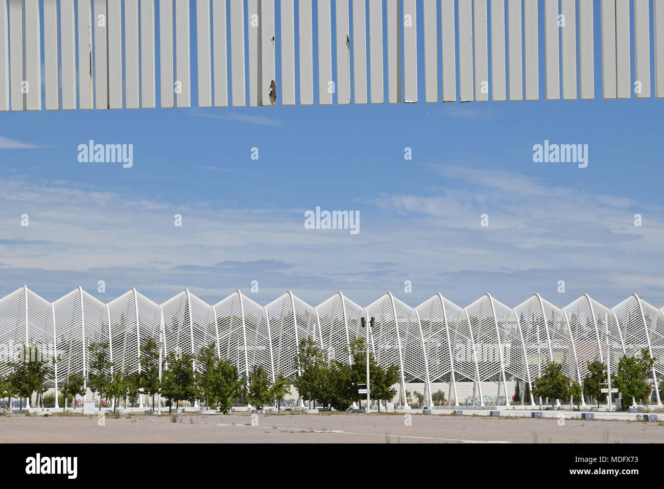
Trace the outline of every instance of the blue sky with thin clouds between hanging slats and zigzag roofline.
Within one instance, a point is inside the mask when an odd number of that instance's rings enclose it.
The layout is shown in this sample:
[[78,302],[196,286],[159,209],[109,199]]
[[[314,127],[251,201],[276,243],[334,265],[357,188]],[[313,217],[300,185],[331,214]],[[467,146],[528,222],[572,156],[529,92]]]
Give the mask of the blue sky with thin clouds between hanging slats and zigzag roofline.
[[[262,304],[290,289],[313,305],[342,290],[361,305],[392,291],[415,306],[440,291],[464,307],[488,291],[510,307],[535,292],[560,307],[585,292],[608,307],[637,292],[661,307],[663,107],[631,98],[0,114],[0,296],[26,283],[54,300],[81,285],[108,302],[137,287],[160,303],[189,287],[215,303],[258,280],[250,296]],[[78,162],[90,139],[133,144],[133,167]],[[534,163],[544,140],[588,144],[588,167]],[[359,234],[305,229],[316,206],[359,211]]]

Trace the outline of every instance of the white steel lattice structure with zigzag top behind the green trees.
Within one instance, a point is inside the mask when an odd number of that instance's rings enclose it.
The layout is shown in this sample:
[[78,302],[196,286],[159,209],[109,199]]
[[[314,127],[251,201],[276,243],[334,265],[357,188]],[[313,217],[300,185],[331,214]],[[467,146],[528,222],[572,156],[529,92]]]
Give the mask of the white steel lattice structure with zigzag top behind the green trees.
[[488,293],[465,308],[440,293],[414,308],[391,293],[361,307],[341,292],[312,307],[290,291],[266,306],[240,291],[209,305],[185,289],[159,305],[136,289],[104,304],[80,287],[50,303],[26,286],[0,299],[0,375],[11,371],[20,349],[37,347],[48,360],[49,382],[87,377],[91,343],[108,343],[110,370],[140,372],[141,347],[153,339],[163,357],[197,355],[214,343],[243,377],[262,365],[272,379],[293,379],[304,338],[331,359],[351,361],[350,343],[367,335],[363,317],[374,318],[369,345],[378,363],[399,368],[401,399],[406,382],[424,383],[428,400],[432,382],[449,382],[456,399],[460,381],[478,383],[480,398],[479,383],[493,381],[508,399],[501,385],[532,386],[550,361],[582,382],[589,361],[616,365],[641,349],[655,359],[651,383],[664,375],[664,309],[636,294],[612,309],[588,294],[562,309],[535,294],[511,309]]

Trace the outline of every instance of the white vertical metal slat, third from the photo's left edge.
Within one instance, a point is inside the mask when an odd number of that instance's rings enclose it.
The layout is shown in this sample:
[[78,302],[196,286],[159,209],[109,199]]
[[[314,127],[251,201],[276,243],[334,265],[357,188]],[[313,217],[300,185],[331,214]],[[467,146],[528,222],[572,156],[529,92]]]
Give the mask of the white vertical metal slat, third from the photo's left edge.
[[41,110],[41,19],[39,0],[25,0],[25,80],[27,110]]

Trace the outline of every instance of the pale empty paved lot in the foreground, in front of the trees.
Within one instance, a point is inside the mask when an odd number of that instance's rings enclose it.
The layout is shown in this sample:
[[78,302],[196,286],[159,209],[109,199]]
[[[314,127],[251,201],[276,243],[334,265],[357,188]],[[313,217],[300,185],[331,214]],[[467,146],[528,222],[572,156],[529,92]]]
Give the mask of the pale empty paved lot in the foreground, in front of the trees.
[[106,416],[11,414],[0,416],[3,442],[522,442],[654,443],[664,441],[664,422],[488,418],[412,414],[260,414],[201,416]]

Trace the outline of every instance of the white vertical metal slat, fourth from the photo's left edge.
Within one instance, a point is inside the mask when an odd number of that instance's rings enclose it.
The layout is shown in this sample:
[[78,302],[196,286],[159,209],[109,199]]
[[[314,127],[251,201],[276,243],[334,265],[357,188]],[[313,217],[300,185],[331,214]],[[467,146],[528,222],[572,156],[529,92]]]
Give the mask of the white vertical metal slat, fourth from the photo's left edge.
[[[0,1],[0,4],[2,3]],[[0,5],[0,11],[2,9],[3,5]],[[0,15],[2,14],[0,13]],[[44,0],[44,95],[46,110],[58,110],[60,108],[59,44],[58,0]]]

